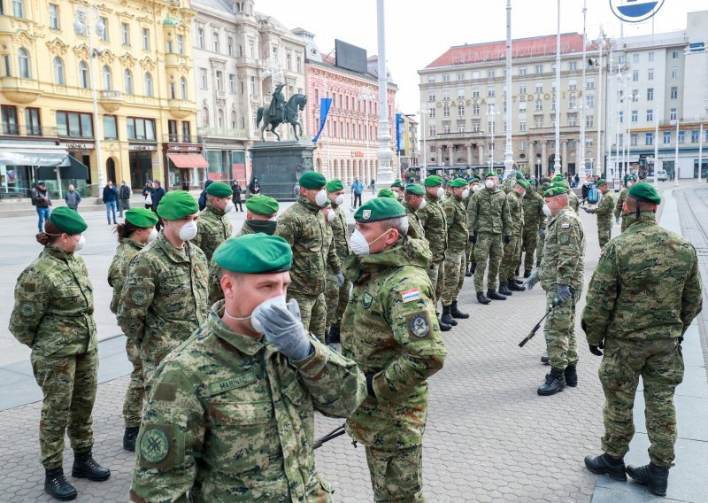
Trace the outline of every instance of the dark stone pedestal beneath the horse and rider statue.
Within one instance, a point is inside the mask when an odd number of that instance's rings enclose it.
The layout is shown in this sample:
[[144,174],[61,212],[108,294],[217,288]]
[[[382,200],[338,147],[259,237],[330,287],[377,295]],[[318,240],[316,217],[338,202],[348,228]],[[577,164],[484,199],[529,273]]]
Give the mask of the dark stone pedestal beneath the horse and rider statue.
[[305,171],[313,169],[314,150],[310,141],[254,143],[250,148],[251,180],[258,178],[260,193],[265,196],[294,201],[296,182]]

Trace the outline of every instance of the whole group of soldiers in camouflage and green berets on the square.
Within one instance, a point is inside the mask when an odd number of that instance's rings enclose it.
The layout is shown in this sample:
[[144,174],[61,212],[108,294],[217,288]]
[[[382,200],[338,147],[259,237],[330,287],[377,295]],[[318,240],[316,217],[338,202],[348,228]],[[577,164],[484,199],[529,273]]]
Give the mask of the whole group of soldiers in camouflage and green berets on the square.
[[[131,209],[118,226],[108,282],[133,365],[123,407],[123,447],[136,452],[132,500],[329,501],[313,454],[318,410],[346,418],[365,446],[375,501],[424,501],[427,379],[443,368],[442,332],[469,318],[458,305],[466,277],[482,306],[540,282],[550,372],[537,392],[578,385],[585,234],[565,177],[396,181],[358,208],[353,232],[342,181],[306,172],[298,184],[280,216],[273,197],[247,199],[233,237],[232,190],[222,182],[207,187],[201,213],[189,193],[173,191],[157,214]],[[605,435],[604,454],[586,465],[666,494],[681,340],[701,308],[696,251],[658,227],[661,199],[647,183],[620,194],[626,231],[609,241],[618,213],[606,183],[598,186],[593,213],[606,244],[582,327],[589,351],[605,351]],[[33,351],[44,487],[62,500],[77,494],[62,468],[65,432],[73,476],[111,475],[92,454],[96,323],[76,253],[87,227],[68,209],[51,213],[10,322]],[[640,375],[650,464],[626,468]]]

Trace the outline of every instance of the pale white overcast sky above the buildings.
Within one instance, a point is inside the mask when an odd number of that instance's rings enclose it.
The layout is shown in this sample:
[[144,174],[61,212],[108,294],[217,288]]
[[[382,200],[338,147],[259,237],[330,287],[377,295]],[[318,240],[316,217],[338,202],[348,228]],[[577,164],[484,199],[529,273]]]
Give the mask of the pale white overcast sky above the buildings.
[[[620,36],[620,20],[607,0],[587,0],[588,36],[595,39],[602,24],[605,34]],[[376,0],[256,0],[256,10],[274,16],[286,27],[315,34],[319,50],[335,48],[335,38],[377,52]],[[386,0],[386,58],[398,85],[401,112],[419,109],[417,71],[451,45],[485,43],[506,38],[506,0]],[[556,33],[555,0],[512,0],[512,38]],[[583,0],[562,0],[561,32],[582,33]],[[686,27],[687,12],[708,9],[706,0],[666,0],[654,18],[656,33]],[[705,27],[708,32],[708,27]],[[651,33],[651,21],[624,23],[624,35]],[[708,42],[708,40],[706,41]]]

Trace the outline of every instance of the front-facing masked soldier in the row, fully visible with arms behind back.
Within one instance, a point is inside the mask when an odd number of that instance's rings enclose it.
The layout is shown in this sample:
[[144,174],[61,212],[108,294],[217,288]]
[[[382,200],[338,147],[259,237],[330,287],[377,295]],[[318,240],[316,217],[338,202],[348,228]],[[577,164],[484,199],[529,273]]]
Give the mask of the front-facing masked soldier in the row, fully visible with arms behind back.
[[[506,300],[504,295],[496,293],[496,280],[499,265],[502,262],[502,236],[504,244],[512,241],[512,217],[503,190],[497,189],[499,177],[490,171],[484,175],[484,189],[477,192],[467,206],[467,225],[470,241],[474,244],[474,290],[477,302],[489,304],[492,299]],[[487,295],[484,295],[484,270],[489,260],[487,275]]]

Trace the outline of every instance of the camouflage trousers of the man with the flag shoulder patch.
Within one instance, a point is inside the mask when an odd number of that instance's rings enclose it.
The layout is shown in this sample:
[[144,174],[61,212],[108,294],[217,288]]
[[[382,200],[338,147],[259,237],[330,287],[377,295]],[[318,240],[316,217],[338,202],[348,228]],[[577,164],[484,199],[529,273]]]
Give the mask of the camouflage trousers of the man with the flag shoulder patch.
[[366,447],[375,502],[423,503],[423,446],[381,451]]

